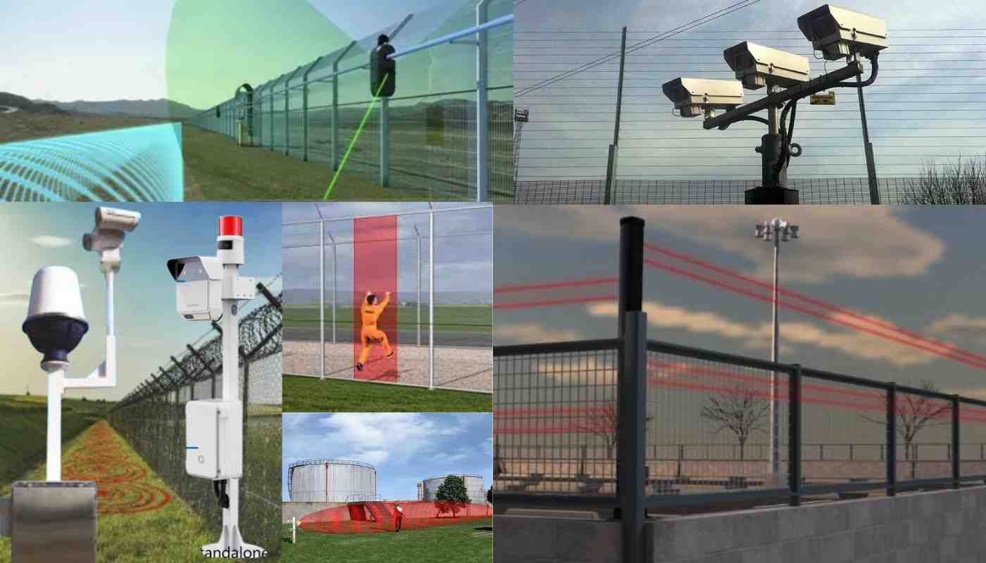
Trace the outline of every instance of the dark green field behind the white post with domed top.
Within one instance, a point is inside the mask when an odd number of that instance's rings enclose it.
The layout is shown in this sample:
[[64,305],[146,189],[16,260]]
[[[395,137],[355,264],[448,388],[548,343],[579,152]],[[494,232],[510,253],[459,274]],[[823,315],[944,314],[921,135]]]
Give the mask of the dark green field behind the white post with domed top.
[[[113,404],[62,398],[62,442],[105,418]],[[0,395],[0,483],[10,483],[44,460],[46,405],[44,395]]]

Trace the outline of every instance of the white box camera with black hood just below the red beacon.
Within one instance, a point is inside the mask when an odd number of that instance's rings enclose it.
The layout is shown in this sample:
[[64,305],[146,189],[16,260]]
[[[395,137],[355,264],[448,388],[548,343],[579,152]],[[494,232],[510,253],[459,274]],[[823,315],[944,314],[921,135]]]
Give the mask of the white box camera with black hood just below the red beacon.
[[223,263],[215,256],[168,260],[175,279],[176,310],[188,320],[218,320],[223,315]]

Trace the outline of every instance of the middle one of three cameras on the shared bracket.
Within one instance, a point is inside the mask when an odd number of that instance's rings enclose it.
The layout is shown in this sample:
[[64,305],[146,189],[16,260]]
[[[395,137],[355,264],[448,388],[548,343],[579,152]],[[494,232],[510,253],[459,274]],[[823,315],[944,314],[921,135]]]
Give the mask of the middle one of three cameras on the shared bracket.
[[764,86],[789,88],[808,82],[808,58],[743,41],[723,51],[723,58],[749,90]]

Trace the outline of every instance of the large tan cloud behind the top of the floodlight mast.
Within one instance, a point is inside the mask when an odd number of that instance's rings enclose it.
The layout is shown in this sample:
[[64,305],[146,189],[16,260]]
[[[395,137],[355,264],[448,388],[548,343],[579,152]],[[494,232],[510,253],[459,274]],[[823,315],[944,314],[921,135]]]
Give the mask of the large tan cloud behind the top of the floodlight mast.
[[[530,215],[535,212],[536,218]],[[656,205],[615,208],[570,205],[509,213],[498,210],[496,225],[497,230],[559,238],[575,244],[581,239],[615,245],[619,240],[619,219],[636,215],[647,222],[646,240],[650,243],[660,245],[662,233],[669,233],[692,244],[688,254],[701,257],[701,246],[726,250],[750,264],[743,273],[768,280],[772,273],[772,253],[765,243],[753,239],[753,226],[773,213],[782,213],[784,219],[800,225],[803,236],[781,249],[782,283],[823,283],[841,276],[917,276],[927,272],[945,251],[945,245],[937,237],[907,224],[899,218],[898,210],[889,207],[868,207],[861,211],[836,206],[789,206],[783,210],[733,206],[729,213],[723,213],[722,209],[701,205],[674,209]],[[572,229],[572,225],[578,225],[578,229]],[[859,241],[865,244],[857,244]],[[664,259],[660,254],[653,256]],[[666,261],[681,264],[672,259]]]

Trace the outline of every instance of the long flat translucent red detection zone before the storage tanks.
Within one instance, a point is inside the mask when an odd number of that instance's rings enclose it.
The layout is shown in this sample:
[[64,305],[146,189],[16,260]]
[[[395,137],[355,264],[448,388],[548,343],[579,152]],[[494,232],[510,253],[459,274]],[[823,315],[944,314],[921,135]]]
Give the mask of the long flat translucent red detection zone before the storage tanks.
[[404,511],[401,530],[437,528],[475,522],[492,516],[491,507],[467,504],[452,508],[433,501],[356,502],[318,511],[302,519],[299,526],[318,533],[380,533],[396,528],[394,511]]

